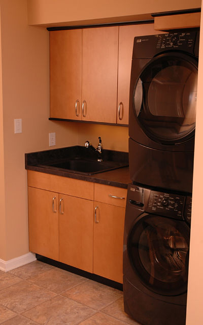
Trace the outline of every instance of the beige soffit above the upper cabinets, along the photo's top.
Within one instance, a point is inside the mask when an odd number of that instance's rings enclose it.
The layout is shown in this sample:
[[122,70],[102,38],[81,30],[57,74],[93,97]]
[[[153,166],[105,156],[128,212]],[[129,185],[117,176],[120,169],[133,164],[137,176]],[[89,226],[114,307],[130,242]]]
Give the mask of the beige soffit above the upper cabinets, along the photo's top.
[[28,0],[28,21],[46,25],[126,21],[148,19],[155,12],[199,7],[201,0]]

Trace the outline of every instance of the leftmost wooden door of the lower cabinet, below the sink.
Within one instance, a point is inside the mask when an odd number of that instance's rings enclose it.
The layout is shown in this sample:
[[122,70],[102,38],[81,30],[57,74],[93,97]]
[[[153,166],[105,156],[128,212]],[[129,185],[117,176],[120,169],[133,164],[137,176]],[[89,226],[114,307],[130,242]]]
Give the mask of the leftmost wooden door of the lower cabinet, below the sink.
[[28,187],[29,250],[58,260],[58,193]]

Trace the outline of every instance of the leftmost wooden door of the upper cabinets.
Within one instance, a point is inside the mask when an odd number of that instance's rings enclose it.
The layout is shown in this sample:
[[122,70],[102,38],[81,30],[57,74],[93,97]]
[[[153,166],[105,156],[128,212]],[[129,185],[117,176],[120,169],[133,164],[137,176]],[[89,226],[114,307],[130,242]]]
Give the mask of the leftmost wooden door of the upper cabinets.
[[50,32],[50,117],[81,120],[82,30]]

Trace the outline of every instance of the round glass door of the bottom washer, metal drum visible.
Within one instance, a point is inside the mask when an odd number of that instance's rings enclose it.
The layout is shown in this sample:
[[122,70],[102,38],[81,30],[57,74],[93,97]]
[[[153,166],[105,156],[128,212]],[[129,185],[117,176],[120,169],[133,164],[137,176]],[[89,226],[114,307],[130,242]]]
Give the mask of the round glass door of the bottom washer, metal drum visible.
[[184,221],[146,214],[132,227],[127,252],[134,271],[151,291],[187,291],[190,228]]

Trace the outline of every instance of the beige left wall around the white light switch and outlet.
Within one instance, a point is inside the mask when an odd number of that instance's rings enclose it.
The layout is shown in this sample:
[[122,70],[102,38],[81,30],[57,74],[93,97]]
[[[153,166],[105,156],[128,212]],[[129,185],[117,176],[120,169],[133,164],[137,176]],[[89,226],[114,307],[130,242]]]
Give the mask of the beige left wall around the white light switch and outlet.
[[[27,25],[26,4],[26,0],[0,1],[0,258],[4,260],[28,253],[24,153],[51,149],[49,132],[56,132],[55,147],[78,141],[78,126],[74,123],[48,120],[49,33],[45,28]],[[22,133],[14,134],[14,119],[19,118]]]

